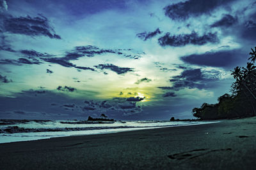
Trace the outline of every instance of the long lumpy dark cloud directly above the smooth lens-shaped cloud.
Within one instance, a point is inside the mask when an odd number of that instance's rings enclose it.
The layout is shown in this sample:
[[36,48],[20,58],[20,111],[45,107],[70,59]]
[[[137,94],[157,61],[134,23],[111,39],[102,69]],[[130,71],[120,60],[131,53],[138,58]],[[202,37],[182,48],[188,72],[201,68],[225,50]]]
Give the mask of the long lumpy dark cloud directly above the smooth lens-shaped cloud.
[[158,39],[158,43],[161,46],[204,45],[206,43],[218,43],[218,41],[216,32],[209,32],[203,36],[198,36],[195,31],[192,31],[191,34],[179,34],[177,36],[170,36],[170,32],[167,32],[163,37]]

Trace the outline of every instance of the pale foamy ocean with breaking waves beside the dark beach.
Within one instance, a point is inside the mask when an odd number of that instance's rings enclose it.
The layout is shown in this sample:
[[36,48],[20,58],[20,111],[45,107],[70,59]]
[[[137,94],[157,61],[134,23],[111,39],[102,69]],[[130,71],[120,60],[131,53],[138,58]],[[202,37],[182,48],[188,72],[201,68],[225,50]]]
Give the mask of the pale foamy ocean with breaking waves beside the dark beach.
[[0,120],[0,143],[212,123],[216,121]]

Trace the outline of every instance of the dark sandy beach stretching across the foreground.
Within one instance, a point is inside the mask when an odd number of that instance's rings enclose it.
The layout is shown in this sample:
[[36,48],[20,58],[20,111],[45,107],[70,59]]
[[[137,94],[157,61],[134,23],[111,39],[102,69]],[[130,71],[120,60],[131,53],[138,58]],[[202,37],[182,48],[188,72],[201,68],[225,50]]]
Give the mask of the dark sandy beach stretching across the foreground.
[[256,117],[0,145],[0,169],[256,169]]

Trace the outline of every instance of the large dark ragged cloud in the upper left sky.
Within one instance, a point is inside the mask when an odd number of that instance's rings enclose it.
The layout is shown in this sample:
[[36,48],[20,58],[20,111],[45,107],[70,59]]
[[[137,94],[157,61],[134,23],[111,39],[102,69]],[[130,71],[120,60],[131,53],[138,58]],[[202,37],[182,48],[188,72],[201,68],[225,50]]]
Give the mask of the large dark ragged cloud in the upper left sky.
[[28,36],[47,36],[49,38],[61,39],[55,34],[54,29],[49,25],[49,20],[43,15],[38,17],[12,17],[8,16],[3,22],[4,31],[13,34],[24,34]]

